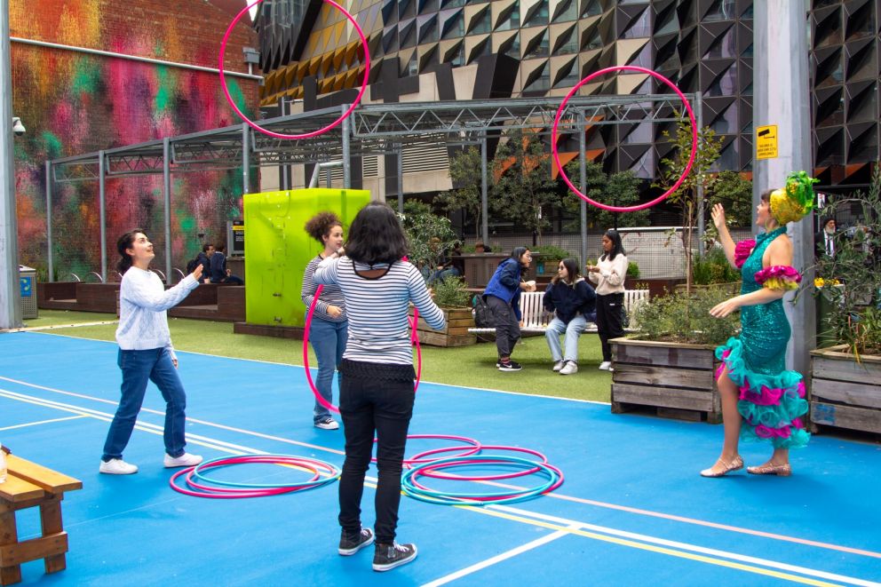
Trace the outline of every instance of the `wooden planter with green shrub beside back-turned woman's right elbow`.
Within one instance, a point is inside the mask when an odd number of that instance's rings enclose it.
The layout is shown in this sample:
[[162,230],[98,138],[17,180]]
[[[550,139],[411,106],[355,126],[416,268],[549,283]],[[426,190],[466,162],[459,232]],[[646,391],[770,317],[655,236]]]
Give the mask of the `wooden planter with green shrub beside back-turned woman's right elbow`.
[[460,277],[448,277],[434,282],[432,286],[434,303],[443,310],[447,325],[443,330],[434,330],[419,318],[417,324],[419,342],[433,346],[464,346],[476,343],[477,337],[468,333],[468,329],[474,328],[473,295],[465,289],[465,282]]

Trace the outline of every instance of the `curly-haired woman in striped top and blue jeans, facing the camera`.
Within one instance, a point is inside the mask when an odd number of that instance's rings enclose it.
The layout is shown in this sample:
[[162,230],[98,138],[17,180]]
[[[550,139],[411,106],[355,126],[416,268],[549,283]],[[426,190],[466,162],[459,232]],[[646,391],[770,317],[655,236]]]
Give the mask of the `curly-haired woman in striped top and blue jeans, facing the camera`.
[[[333,212],[319,212],[306,222],[306,233],[321,242],[324,250],[309,261],[303,275],[303,290],[300,297],[306,307],[310,307],[315,298],[318,284],[315,283],[315,268],[329,255],[343,246],[343,223]],[[345,299],[343,292],[336,285],[325,285],[315,305],[312,316],[312,333],[309,342],[318,359],[318,377],[315,388],[321,397],[331,403],[333,400],[333,374],[343,360],[345,340],[348,337],[349,322],[345,318]],[[339,424],[330,416],[329,409],[315,400],[313,411],[315,427],[323,430],[337,430]]]

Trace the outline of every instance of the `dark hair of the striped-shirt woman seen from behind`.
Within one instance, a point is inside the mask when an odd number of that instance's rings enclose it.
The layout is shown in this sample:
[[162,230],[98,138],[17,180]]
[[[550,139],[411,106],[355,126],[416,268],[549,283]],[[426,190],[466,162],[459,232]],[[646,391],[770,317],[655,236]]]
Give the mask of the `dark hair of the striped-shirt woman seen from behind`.
[[370,202],[355,216],[345,255],[358,263],[394,263],[407,256],[407,235],[385,202]]

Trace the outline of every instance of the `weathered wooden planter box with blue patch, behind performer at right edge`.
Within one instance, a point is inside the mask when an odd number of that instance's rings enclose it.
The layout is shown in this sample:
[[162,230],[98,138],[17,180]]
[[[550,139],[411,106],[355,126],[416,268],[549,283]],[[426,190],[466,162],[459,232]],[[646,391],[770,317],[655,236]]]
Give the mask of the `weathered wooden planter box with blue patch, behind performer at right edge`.
[[819,424],[881,434],[881,356],[858,363],[844,350],[811,351],[811,432]]

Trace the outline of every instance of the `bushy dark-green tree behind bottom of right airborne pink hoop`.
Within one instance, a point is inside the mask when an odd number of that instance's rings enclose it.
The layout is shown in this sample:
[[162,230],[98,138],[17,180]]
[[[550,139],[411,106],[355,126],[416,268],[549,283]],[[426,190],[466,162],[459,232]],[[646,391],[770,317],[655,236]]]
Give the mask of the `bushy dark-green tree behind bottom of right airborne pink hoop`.
[[[632,206],[639,202],[639,186],[642,180],[636,177],[633,171],[618,171],[612,175],[606,175],[602,165],[592,161],[584,163],[586,171],[586,186],[584,194],[596,202],[611,206]],[[569,162],[566,166],[566,174],[575,186],[578,186],[580,178],[580,166],[578,161]],[[563,200],[566,210],[580,214],[581,198],[575,194]],[[589,226],[646,226],[648,224],[648,210],[636,212],[609,212],[602,210],[590,203],[587,204],[587,224]],[[567,224],[567,229],[573,230],[581,227],[581,220],[575,220]]]

